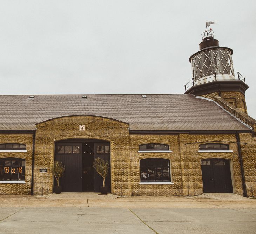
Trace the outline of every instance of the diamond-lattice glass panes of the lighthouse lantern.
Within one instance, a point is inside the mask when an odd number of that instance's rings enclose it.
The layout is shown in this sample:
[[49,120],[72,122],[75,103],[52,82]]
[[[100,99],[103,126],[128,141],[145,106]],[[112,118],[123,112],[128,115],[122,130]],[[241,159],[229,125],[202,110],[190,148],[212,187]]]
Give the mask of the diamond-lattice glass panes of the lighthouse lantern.
[[201,77],[214,76],[215,73],[234,75],[231,51],[228,49],[202,51],[192,58],[191,65],[195,81]]

